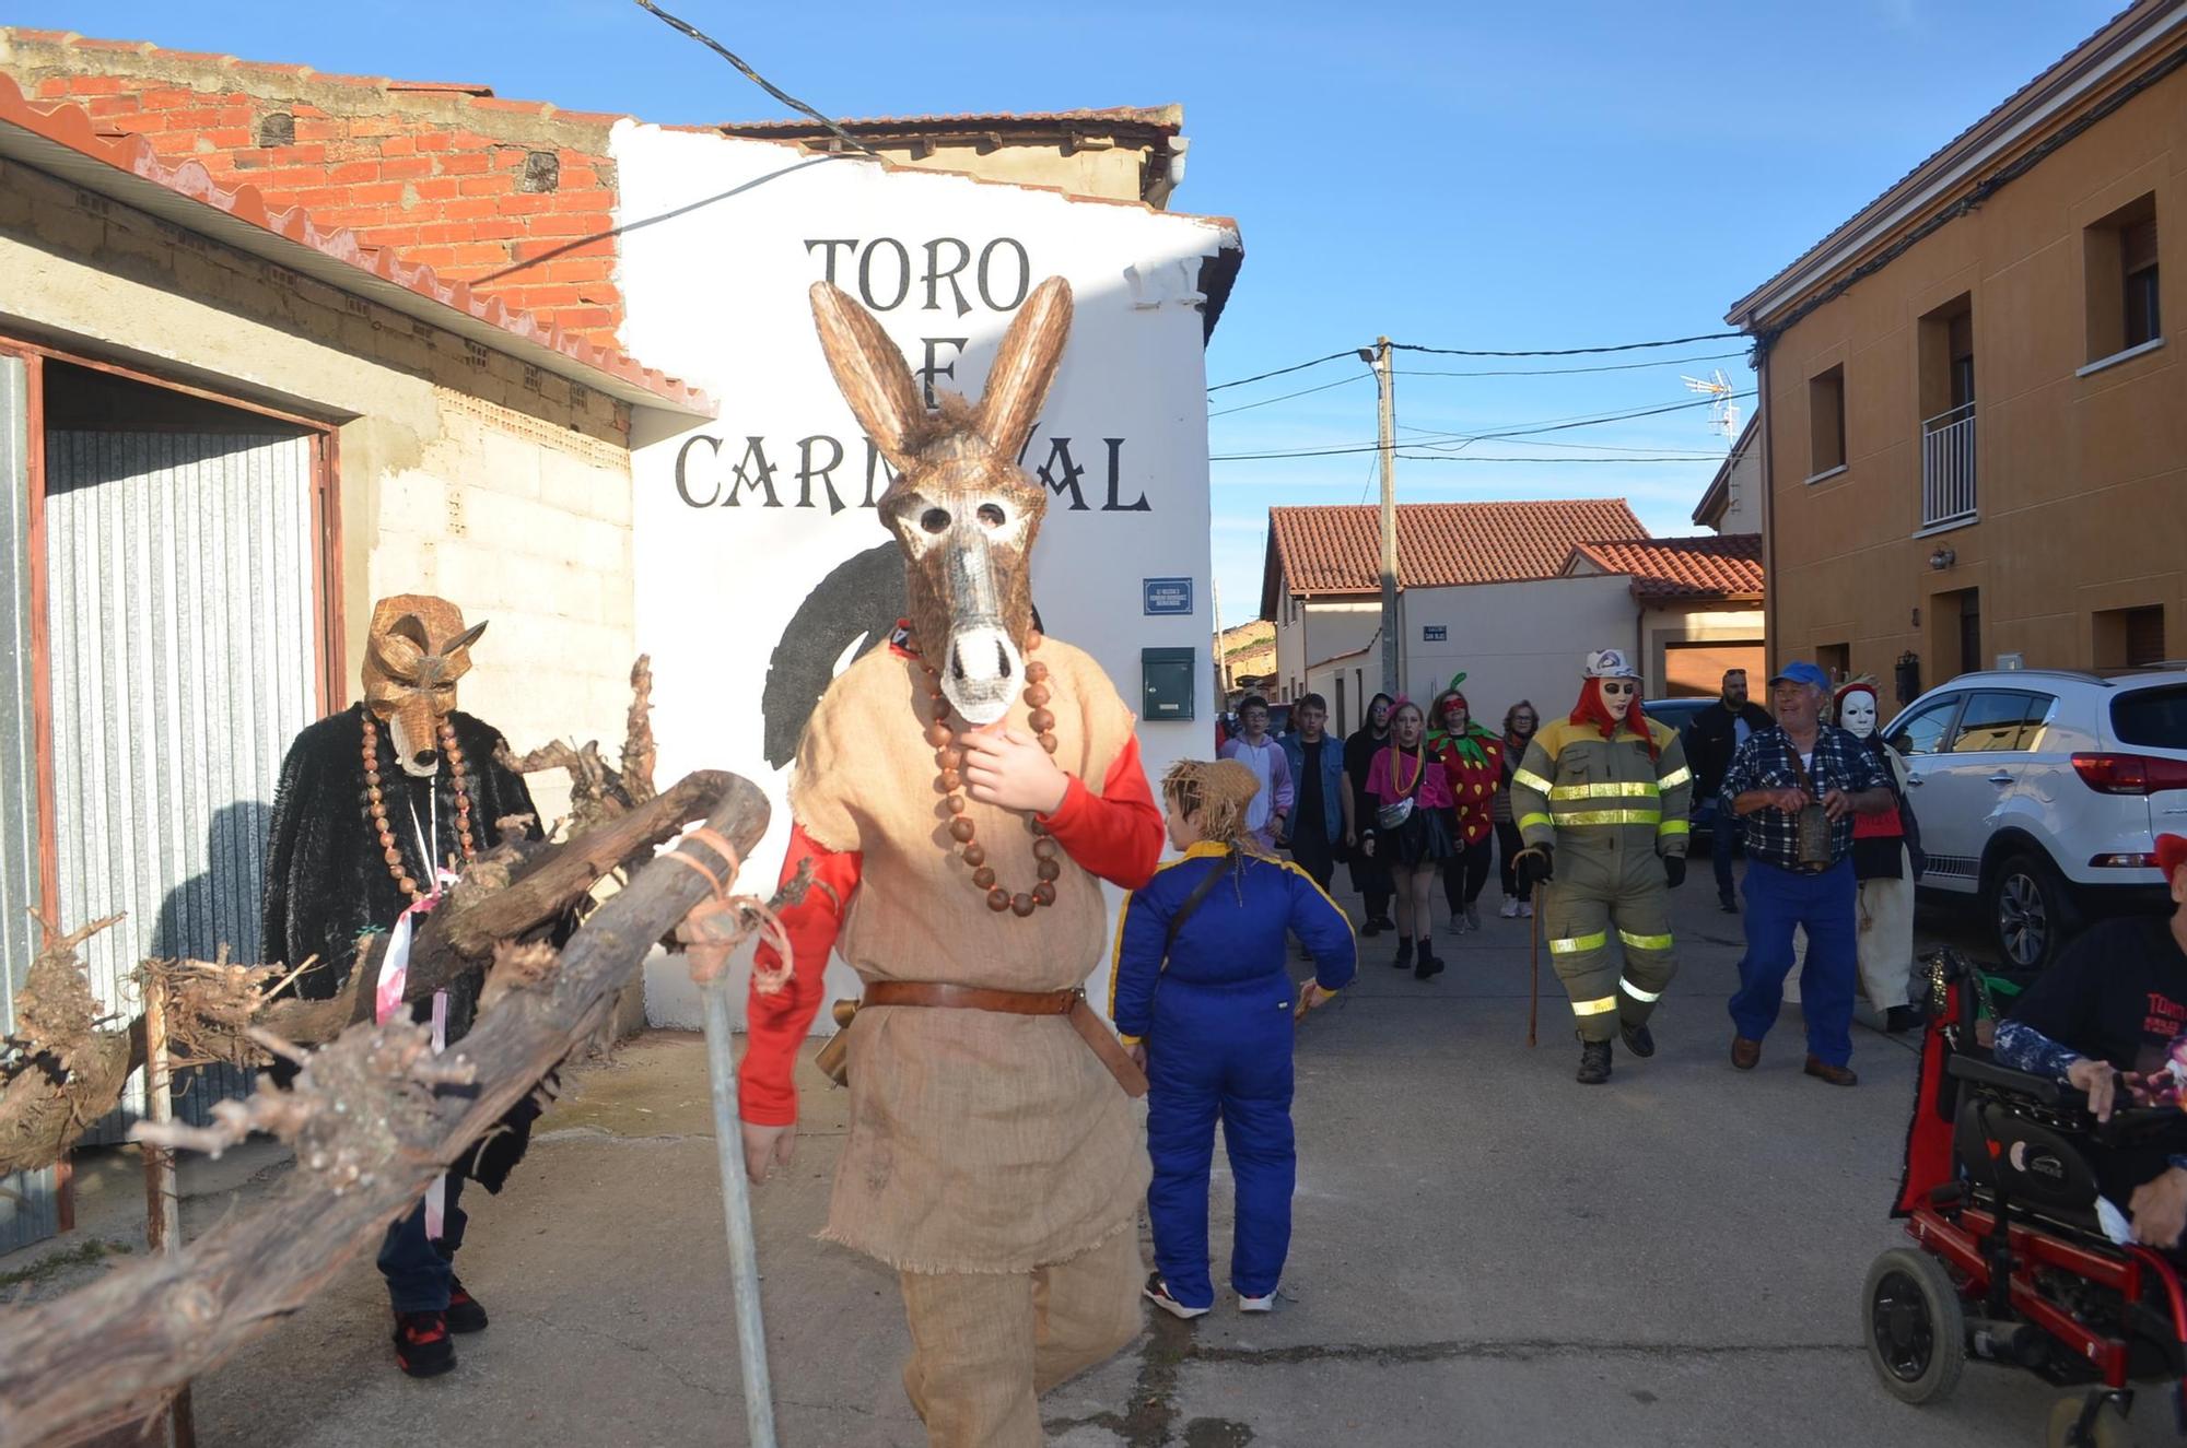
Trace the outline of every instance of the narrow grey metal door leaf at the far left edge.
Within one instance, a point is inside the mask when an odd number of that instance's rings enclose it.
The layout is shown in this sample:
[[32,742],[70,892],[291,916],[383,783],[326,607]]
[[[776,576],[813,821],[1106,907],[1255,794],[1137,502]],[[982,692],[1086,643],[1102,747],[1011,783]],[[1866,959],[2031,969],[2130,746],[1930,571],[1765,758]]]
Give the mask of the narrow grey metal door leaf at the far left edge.
[[[37,873],[37,720],[31,656],[28,370],[0,357],[0,1028],[31,971]],[[0,1177],[0,1251],[59,1231],[52,1168]]]

